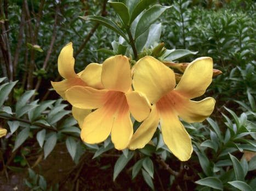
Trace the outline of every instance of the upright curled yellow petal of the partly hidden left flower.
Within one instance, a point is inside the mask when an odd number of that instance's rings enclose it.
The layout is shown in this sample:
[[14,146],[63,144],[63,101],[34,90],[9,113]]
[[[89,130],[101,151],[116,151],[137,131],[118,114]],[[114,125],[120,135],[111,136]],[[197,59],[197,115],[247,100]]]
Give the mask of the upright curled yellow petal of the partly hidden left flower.
[[73,47],[72,43],[69,43],[62,48],[58,57],[58,70],[60,75],[65,79],[77,77],[74,65],[75,58],[73,57]]

